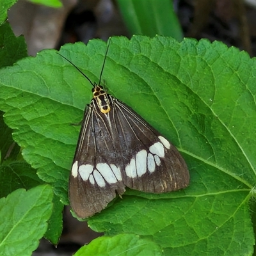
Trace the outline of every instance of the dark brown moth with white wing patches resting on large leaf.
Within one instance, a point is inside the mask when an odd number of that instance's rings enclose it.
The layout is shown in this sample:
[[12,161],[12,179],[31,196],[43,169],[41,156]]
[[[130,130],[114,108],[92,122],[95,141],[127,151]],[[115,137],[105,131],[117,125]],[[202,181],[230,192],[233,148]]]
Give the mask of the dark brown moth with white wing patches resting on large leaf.
[[[109,45],[108,45],[109,48]],[[132,108],[92,83],[69,178],[69,200],[79,218],[102,211],[125,188],[164,193],[186,188],[188,167],[177,148]]]

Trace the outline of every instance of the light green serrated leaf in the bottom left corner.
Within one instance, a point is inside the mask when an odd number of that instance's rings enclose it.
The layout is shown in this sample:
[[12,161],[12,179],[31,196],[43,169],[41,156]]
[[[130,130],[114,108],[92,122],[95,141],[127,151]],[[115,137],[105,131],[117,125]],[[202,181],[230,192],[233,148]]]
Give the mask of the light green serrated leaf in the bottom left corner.
[[[47,230],[51,216],[49,185],[17,189],[0,199],[0,251],[2,255],[31,255]],[[22,235],[21,235],[22,234]]]

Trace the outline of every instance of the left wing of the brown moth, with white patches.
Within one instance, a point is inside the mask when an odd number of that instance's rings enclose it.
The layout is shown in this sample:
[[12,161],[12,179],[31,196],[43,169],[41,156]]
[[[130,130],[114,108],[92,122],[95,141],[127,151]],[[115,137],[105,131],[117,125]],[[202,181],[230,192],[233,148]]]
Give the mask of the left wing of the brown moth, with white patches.
[[79,218],[102,211],[116,197],[116,191],[120,195],[125,192],[121,170],[115,168],[118,153],[113,136],[97,113],[90,104],[84,114],[69,178],[70,205]]

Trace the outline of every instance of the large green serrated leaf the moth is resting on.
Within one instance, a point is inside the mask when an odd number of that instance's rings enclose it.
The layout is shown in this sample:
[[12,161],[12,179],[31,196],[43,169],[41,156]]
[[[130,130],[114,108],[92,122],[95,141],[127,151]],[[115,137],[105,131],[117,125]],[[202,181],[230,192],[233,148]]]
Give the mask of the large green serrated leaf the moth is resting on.
[[[106,43],[65,45],[61,54],[99,81]],[[127,191],[90,218],[94,230],[147,237],[166,255],[250,255],[255,185],[255,60],[220,42],[113,38],[102,79],[180,150],[189,188]],[[23,156],[68,204],[67,183],[92,86],[55,51],[0,70],[0,109]]]

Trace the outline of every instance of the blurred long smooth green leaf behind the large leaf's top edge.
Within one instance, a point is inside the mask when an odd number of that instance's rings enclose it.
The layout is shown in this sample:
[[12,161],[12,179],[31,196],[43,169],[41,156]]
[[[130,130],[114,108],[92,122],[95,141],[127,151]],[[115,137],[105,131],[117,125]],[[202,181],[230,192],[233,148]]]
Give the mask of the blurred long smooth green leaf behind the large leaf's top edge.
[[117,0],[131,35],[172,36],[183,38],[172,1]]

